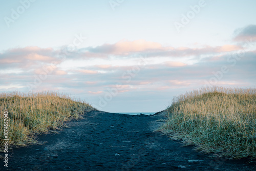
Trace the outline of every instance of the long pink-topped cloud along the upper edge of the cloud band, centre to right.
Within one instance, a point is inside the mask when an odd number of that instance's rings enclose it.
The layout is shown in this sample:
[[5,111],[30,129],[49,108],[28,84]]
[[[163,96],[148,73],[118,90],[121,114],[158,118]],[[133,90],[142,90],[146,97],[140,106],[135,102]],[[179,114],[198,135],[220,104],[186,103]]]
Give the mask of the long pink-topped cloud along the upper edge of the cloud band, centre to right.
[[146,41],[143,39],[129,41],[121,40],[115,44],[104,44],[95,48],[88,48],[92,56],[102,54],[112,55],[131,55],[133,53],[144,53],[148,57],[158,56],[191,56],[191,55],[202,55],[209,53],[220,53],[240,50],[241,47],[235,45],[224,45],[224,46],[204,46],[203,48],[188,48],[188,47],[164,47],[158,42]]

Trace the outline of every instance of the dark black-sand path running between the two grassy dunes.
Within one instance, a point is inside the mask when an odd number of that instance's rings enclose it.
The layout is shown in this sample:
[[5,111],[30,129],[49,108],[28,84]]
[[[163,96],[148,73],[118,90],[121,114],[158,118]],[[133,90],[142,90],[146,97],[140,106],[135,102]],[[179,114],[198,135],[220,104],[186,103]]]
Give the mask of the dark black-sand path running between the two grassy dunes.
[[59,134],[39,135],[44,145],[14,148],[0,170],[256,170],[255,162],[210,158],[154,132],[164,112],[123,115],[93,111]]

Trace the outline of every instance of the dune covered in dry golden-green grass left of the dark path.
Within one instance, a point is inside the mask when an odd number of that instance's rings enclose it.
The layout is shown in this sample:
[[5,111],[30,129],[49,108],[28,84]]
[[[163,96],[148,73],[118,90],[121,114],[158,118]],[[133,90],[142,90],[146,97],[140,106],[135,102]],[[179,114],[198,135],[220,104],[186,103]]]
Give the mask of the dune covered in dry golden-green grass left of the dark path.
[[70,118],[81,118],[79,114],[95,110],[78,99],[72,100],[65,94],[1,93],[0,94],[0,147],[3,149],[4,112],[8,112],[8,144],[24,145],[35,143],[34,133],[46,133],[59,129]]

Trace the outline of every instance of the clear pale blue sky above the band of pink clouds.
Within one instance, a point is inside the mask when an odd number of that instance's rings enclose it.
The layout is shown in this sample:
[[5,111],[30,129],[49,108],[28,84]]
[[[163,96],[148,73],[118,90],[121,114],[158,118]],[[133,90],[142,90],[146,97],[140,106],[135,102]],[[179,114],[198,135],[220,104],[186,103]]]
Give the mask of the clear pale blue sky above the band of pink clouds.
[[[8,28],[0,23],[1,50],[69,44],[77,32],[89,45],[120,39],[145,39],[163,45],[225,44],[234,29],[256,24],[255,1],[205,1],[206,6],[177,33],[174,22],[199,1],[124,1],[112,10],[109,1],[35,1]],[[11,16],[19,1],[1,1],[1,18]]]

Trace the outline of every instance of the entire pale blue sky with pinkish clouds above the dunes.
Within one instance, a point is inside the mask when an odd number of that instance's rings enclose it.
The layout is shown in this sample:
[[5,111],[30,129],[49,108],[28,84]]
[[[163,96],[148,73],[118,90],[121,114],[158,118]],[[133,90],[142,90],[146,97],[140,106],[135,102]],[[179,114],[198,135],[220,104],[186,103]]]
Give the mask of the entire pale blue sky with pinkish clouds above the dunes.
[[208,86],[255,88],[256,1],[0,0],[0,93],[58,91],[159,112]]

